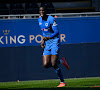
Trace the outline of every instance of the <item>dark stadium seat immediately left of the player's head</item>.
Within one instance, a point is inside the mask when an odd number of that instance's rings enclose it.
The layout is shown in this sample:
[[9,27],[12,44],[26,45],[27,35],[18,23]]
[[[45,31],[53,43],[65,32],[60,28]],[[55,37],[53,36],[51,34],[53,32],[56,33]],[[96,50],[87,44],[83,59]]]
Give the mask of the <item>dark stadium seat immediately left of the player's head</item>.
[[38,14],[39,7],[36,2],[30,2],[25,4],[25,12],[26,14]]

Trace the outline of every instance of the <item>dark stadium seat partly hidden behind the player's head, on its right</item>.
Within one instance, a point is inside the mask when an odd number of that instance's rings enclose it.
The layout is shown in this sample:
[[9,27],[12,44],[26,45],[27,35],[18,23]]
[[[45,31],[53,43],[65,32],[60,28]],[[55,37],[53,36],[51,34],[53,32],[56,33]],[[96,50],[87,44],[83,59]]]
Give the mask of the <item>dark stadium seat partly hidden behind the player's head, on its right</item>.
[[54,8],[52,2],[42,2],[41,6],[45,6],[46,7],[47,14],[55,13],[55,8]]

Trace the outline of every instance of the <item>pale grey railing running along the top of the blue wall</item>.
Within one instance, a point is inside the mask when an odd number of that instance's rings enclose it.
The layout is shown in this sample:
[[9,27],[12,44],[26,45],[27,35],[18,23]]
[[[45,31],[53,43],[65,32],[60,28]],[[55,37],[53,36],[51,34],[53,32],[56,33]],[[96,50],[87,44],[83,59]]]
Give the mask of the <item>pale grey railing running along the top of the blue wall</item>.
[[[55,18],[69,18],[69,17],[92,17],[100,16],[100,12],[86,12],[86,13],[53,13],[48,14]],[[39,14],[19,14],[19,15],[0,15],[0,19],[37,19]]]

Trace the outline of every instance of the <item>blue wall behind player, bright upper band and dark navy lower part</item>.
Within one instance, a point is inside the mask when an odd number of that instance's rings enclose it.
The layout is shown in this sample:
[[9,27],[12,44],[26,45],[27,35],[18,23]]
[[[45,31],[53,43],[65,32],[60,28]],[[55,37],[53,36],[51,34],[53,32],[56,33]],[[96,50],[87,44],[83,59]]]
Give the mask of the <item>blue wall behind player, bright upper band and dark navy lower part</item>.
[[[61,41],[59,57],[67,57],[70,65],[70,70],[60,65],[64,77],[100,76],[100,17],[57,18],[56,21],[60,34],[66,36]],[[31,43],[30,35],[34,36]],[[57,78],[52,68],[42,66],[42,48],[37,42],[41,36],[36,38],[37,35],[42,35],[37,19],[0,20],[0,81]]]

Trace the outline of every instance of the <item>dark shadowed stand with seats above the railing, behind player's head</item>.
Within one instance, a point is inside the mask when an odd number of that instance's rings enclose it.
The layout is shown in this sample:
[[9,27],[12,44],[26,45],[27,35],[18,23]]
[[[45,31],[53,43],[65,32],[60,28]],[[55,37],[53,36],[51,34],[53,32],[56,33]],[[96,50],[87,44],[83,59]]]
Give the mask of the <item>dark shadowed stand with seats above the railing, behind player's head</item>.
[[0,15],[38,14],[45,6],[47,13],[80,13],[100,11],[100,0],[0,0]]

